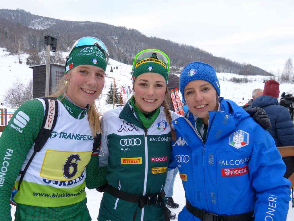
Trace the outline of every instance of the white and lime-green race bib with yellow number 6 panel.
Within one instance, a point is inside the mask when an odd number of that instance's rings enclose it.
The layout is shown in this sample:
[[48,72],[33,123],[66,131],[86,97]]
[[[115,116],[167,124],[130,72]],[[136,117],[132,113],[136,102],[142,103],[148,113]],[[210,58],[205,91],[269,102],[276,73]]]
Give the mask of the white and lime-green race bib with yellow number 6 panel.
[[[39,99],[44,106],[43,99]],[[41,207],[75,204],[86,197],[86,165],[93,150],[94,137],[88,114],[83,119],[71,116],[58,100],[58,118],[50,138],[29,165],[15,202]],[[34,144],[21,167],[24,170]],[[18,187],[18,176],[15,187]]]

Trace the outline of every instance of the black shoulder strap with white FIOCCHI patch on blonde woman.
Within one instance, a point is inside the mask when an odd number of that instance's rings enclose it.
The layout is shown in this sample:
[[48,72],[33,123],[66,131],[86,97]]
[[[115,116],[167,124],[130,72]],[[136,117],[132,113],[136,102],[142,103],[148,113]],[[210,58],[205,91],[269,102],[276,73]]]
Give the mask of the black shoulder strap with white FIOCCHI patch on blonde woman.
[[29,165],[31,164],[31,161],[33,160],[34,156],[37,152],[39,152],[43,146],[45,145],[46,141],[50,137],[57,121],[58,116],[58,102],[57,99],[54,97],[50,98],[42,98],[45,101],[45,115],[43,119],[43,124],[41,127],[41,130],[38,133],[38,136],[35,141],[34,146],[34,153],[32,154],[31,158],[29,159],[28,163],[26,164],[26,167],[23,171],[20,172],[21,177],[19,179],[19,184],[17,190],[19,190],[20,184],[22,180],[24,179],[24,174],[26,173],[27,169],[29,168]]

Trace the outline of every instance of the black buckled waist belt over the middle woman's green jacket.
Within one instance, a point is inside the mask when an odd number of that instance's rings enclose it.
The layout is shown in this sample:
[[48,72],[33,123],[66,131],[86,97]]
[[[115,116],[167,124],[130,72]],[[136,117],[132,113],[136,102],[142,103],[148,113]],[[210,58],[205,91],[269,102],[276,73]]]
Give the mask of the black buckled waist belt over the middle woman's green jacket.
[[[162,209],[163,209],[164,220],[169,221],[168,213],[166,210],[166,204],[163,202],[163,198],[165,197],[165,193],[163,190],[161,190],[161,192],[158,194],[141,196],[141,195],[136,195],[136,194],[131,194],[131,193],[120,191],[120,190],[114,188],[113,186],[107,184],[107,186],[104,189],[104,192],[107,192],[118,199],[122,199],[122,200],[125,200],[128,202],[137,203],[138,207],[140,207],[141,209],[144,208],[144,205],[150,206],[150,205],[153,205],[156,203],[160,203],[162,206]],[[138,207],[137,207],[137,209],[138,209]],[[137,209],[134,213],[133,221],[136,219]]]

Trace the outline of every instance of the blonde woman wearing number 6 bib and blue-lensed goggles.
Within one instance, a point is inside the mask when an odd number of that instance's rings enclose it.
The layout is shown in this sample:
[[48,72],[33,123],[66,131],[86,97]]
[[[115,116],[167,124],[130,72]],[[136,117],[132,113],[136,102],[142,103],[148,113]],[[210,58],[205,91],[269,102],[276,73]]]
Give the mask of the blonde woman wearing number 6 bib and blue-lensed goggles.
[[[67,58],[58,92],[45,99],[50,108],[46,124],[44,99],[27,101],[14,113],[0,138],[1,164],[6,165],[0,185],[1,220],[11,220],[13,185],[18,189],[13,198],[16,221],[91,220],[85,167],[95,149],[94,137],[101,132],[95,100],[104,86],[108,57],[99,39],[79,39]],[[54,114],[58,117],[50,138],[36,152],[42,124],[49,127]]]

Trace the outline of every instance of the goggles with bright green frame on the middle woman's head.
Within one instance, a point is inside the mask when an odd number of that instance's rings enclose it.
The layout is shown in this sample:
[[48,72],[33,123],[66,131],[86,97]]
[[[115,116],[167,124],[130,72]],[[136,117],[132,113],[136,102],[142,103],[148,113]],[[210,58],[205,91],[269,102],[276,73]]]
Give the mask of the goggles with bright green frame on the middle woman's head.
[[158,58],[158,60],[161,60],[162,62],[164,62],[168,66],[168,72],[169,72],[169,66],[170,66],[169,57],[164,52],[162,52],[160,50],[157,50],[157,49],[146,49],[146,50],[143,50],[143,51],[139,52],[135,56],[135,59],[134,59],[134,62],[133,62],[133,70],[135,68],[136,63],[139,60],[151,58],[153,53],[156,54],[156,57]]

